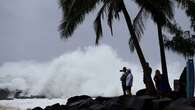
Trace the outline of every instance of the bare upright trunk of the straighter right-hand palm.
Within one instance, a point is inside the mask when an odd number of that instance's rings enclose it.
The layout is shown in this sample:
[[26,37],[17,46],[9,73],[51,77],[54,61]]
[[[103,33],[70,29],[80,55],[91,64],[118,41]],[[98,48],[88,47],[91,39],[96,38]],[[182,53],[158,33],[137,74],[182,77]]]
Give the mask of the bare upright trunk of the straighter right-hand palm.
[[169,80],[168,80],[167,63],[166,63],[165,50],[164,50],[162,27],[159,23],[157,23],[157,27],[158,27],[158,39],[159,39],[161,66],[162,66],[162,80],[164,83],[165,92],[170,92],[171,87],[170,87]]

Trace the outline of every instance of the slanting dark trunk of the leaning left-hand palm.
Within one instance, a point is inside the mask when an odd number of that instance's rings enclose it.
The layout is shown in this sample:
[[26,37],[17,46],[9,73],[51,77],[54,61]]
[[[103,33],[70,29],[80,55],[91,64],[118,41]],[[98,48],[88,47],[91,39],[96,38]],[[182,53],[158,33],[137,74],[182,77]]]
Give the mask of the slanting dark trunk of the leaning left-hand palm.
[[145,60],[145,57],[144,57],[143,52],[141,50],[141,47],[139,45],[137,36],[135,34],[135,30],[134,30],[134,27],[132,25],[131,18],[128,14],[128,11],[127,11],[123,1],[122,1],[121,6],[122,6],[122,12],[124,14],[124,17],[125,17],[125,20],[126,20],[126,23],[127,23],[127,27],[129,29],[131,37],[133,38],[133,44],[135,46],[137,55],[139,57],[141,65],[142,65],[142,69],[144,71],[144,83],[145,83],[145,86],[146,86],[147,94],[155,95],[156,90],[155,90],[154,83],[153,83],[152,77],[151,77],[152,69],[149,67],[148,63]]

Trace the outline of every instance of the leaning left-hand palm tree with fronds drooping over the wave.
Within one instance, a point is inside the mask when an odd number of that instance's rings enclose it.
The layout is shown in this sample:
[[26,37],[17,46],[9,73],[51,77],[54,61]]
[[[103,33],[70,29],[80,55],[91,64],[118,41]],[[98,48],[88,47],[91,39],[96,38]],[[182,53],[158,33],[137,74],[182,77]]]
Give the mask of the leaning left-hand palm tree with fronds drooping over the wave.
[[63,10],[63,21],[60,26],[62,38],[69,38],[76,27],[83,22],[85,15],[94,10],[96,8],[96,5],[99,4],[102,4],[102,7],[100,8],[94,21],[94,29],[96,31],[96,44],[98,44],[99,39],[103,34],[101,20],[104,15],[106,15],[108,18],[108,25],[112,33],[113,19],[119,19],[119,13],[122,12],[125,17],[129,33],[131,35],[131,42],[133,42],[140,63],[142,65],[142,69],[144,71],[144,83],[146,85],[147,92],[150,95],[154,95],[156,91],[151,78],[151,68],[145,60],[138,42],[138,36],[136,35],[136,33],[139,33],[140,30],[135,30],[135,28],[133,27],[131,18],[128,14],[123,0],[60,0],[60,6]]

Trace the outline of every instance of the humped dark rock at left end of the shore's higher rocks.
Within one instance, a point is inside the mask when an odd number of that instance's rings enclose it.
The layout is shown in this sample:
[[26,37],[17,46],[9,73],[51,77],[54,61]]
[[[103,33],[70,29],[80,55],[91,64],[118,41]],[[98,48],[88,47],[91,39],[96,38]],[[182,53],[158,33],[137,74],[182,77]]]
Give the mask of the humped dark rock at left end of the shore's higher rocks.
[[81,95],[81,96],[74,96],[74,97],[71,97],[67,100],[67,105],[71,104],[71,103],[74,103],[74,102],[77,102],[79,100],[85,100],[85,99],[92,99],[90,96],[87,96],[87,95]]

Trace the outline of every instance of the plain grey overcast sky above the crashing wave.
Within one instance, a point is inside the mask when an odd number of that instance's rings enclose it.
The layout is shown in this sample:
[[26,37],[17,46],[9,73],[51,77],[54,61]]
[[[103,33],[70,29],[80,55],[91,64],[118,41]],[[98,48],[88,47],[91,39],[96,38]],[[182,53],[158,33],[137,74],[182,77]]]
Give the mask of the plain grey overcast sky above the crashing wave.
[[[129,8],[132,16],[137,13],[134,9]],[[95,13],[87,16],[73,37],[63,41],[58,32],[61,10],[57,0],[0,0],[0,64],[20,60],[47,61],[78,47],[94,45],[94,16]],[[189,29],[182,11],[176,11],[176,18],[184,29]],[[136,53],[129,52],[129,33],[124,24],[121,16],[114,24],[113,37],[104,25],[104,38],[100,42],[112,46],[125,60],[138,62]],[[151,65],[160,62],[156,25],[151,20],[148,20],[141,46]],[[171,52],[167,52],[167,59],[184,61]]]

